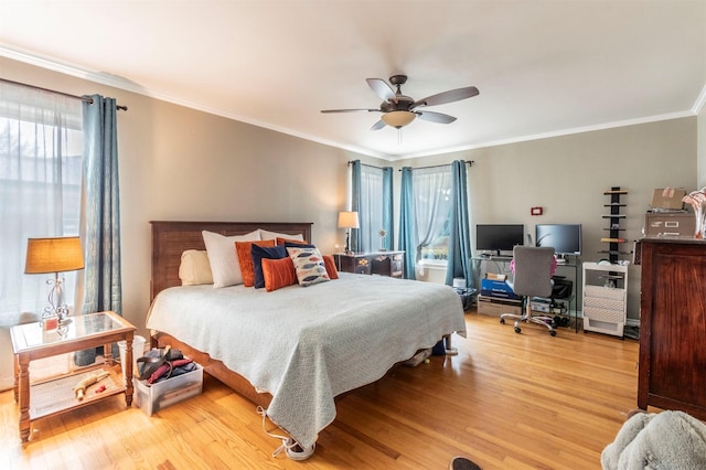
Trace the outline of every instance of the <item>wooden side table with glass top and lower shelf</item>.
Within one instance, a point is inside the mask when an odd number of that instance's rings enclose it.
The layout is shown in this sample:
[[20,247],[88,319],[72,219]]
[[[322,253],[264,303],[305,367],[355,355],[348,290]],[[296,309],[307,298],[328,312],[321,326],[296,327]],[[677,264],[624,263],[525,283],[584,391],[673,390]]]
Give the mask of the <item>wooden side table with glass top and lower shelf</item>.
[[[127,406],[132,404],[132,338],[136,328],[115,312],[99,312],[71,317],[71,322],[62,329],[43,331],[39,322],[18,324],[10,329],[14,352],[14,400],[20,404],[20,437],[23,442],[30,438],[32,421],[60,413],[90,405],[113,395],[125,393]],[[115,371],[111,343],[126,342],[125,381],[120,371]],[[95,386],[86,391],[83,400],[75,397],[73,387],[88,373],[96,373],[104,364],[54,377],[30,385],[30,362],[103,345],[109,372]],[[95,393],[100,385],[106,388]]]

